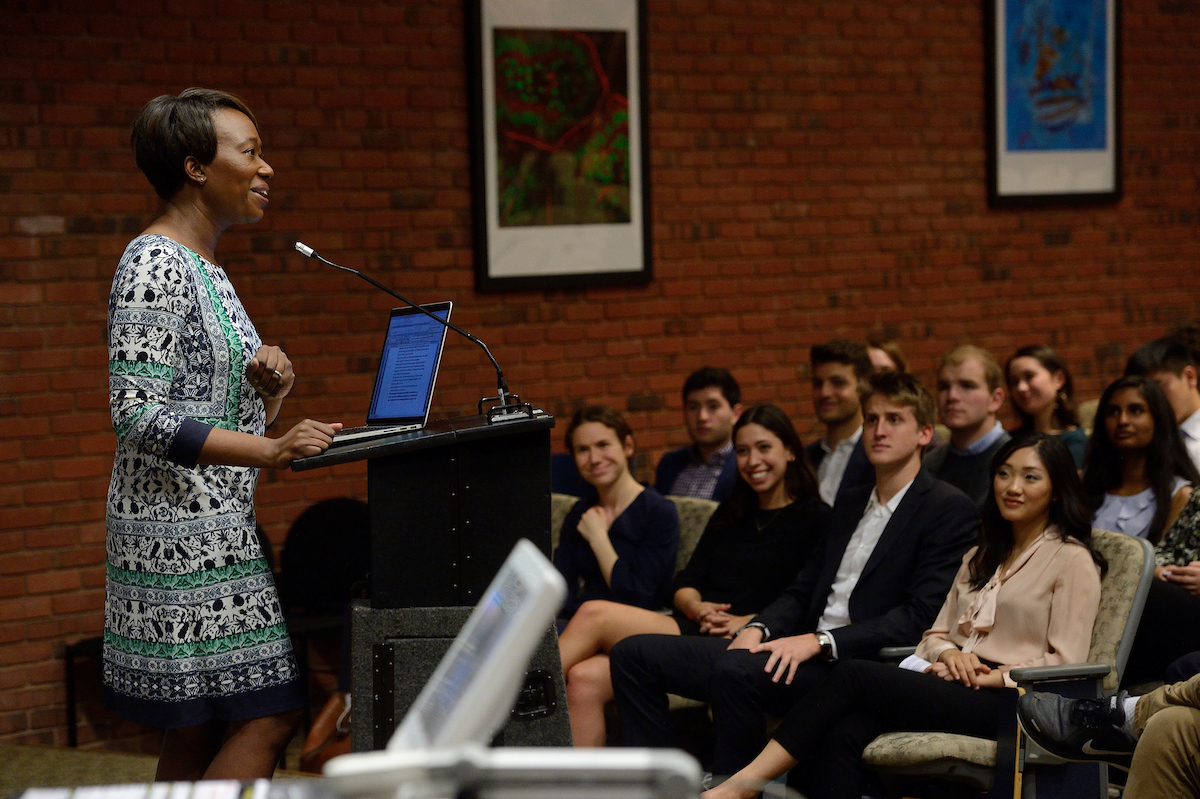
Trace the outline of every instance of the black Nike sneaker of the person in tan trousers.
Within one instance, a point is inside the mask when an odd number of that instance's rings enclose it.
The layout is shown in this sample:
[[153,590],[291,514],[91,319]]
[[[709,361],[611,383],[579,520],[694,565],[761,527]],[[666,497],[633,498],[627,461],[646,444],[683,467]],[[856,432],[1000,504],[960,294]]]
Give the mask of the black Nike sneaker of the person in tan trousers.
[[1042,749],[1067,761],[1098,761],[1129,770],[1136,741],[1123,729],[1121,691],[1103,699],[1026,693],[1016,702],[1021,729]]

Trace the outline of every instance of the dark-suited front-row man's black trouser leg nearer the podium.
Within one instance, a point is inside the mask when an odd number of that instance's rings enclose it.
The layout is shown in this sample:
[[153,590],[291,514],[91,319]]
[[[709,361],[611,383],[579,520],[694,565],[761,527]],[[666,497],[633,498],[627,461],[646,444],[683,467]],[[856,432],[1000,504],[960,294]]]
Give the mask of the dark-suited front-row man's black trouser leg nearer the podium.
[[667,693],[709,701],[713,662],[730,642],[704,636],[630,636],[608,653],[625,746],[674,746]]

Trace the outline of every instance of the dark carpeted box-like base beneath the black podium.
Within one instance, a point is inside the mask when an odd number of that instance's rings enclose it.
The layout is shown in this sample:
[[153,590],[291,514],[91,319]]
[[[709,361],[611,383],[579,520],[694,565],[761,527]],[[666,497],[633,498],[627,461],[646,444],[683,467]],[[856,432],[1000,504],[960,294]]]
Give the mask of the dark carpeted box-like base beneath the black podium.
[[[372,608],[356,602],[350,625],[355,752],[383,749],[470,615],[469,607]],[[496,741],[570,746],[566,683],[553,624],[527,673],[526,690]]]

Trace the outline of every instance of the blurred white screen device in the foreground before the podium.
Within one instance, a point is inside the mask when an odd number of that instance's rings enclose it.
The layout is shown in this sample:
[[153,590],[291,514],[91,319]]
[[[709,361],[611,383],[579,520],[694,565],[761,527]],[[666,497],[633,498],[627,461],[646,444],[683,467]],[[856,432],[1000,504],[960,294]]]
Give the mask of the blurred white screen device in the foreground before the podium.
[[486,749],[565,596],[553,564],[518,541],[388,747],[329,761],[328,788],[341,799],[697,797],[700,764],[680,751]]

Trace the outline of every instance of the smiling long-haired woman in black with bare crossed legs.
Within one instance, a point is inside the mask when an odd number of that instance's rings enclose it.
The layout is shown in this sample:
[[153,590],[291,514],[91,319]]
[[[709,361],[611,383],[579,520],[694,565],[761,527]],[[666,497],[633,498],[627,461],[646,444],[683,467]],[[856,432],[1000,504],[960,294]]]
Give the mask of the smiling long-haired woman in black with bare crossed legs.
[[576,746],[605,743],[607,651],[614,643],[643,632],[727,638],[787,588],[824,539],[829,507],[787,414],[755,405],[733,435],[742,479],[676,577],[674,613],[593,600],[563,630],[558,647]]

